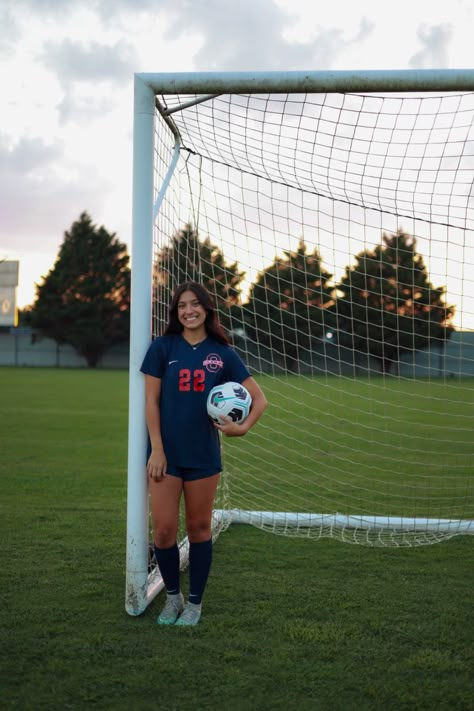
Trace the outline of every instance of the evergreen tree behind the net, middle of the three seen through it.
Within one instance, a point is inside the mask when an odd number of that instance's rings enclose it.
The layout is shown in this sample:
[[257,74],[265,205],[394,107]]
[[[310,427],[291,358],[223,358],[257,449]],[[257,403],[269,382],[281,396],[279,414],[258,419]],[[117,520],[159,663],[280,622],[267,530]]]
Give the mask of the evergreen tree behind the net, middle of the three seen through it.
[[287,370],[309,362],[312,339],[322,339],[333,326],[330,306],[332,274],[322,267],[317,249],[311,254],[300,241],[264,269],[252,285],[246,307],[253,338],[282,355]]

